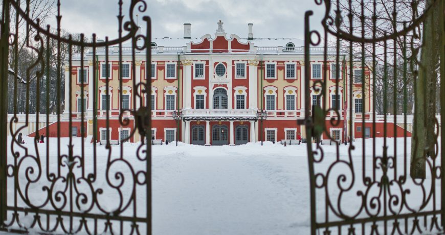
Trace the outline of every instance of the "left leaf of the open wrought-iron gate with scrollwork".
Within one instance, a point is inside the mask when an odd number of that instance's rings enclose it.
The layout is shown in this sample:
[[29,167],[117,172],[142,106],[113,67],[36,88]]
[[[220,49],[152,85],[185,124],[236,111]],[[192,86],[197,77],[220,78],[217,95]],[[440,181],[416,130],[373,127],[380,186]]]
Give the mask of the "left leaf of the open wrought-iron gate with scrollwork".
[[[131,0],[123,9],[118,1],[119,36],[99,40],[64,35],[60,0],[57,27],[42,26],[32,18],[35,2],[2,1],[0,122],[7,123],[8,108],[13,117],[10,126],[0,125],[0,230],[151,234],[151,80],[136,69],[151,61],[150,18],[142,17],[140,27],[136,19],[147,3]],[[123,84],[123,77],[133,79]],[[19,112],[26,125],[13,128]],[[50,123],[54,113],[57,122]],[[25,143],[20,130],[39,123],[39,114],[47,127],[36,126]]]

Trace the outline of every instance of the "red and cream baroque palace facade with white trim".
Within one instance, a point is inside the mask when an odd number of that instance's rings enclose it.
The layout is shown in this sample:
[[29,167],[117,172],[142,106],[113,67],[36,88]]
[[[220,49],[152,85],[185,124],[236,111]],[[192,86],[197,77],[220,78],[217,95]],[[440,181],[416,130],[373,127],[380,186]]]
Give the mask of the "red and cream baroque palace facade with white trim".
[[[71,131],[73,136],[80,136],[82,114],[86,135],[93,135],[93,73],[96,72],[97,131],[102,143],[108,136],[119,143],[120,139],[131,135],[134,117],[124,111],[122,115],[127,116],[130,123],[122,126],[119,113],[121,109],[137,110],[139,106],[146,105],[145,97],[143,104],[140,99],[134,99],[134,84],[144,82],[147,78],[152,80],[150,100],[152,136],[155,139],[172,142],[179,136],[180,141],[189,144],[239,145],[260,140],[280,141],[298,139],[300,136],[305,138],[304,126],[298,125],[297,121],[304,119],[305,109],[310,108],[305,107],[303,99],[304,73],[309,73],[311,105],[320,105],[322,99],[327,99],[327,106],[338,106],[341,115],[339,125],[332,126],[329,121],[335,115],[333,111],[326,116],[326,129],[331,136],[340,143],[347,136],[371,137],[372,127],[369,122],[372,122],[373,112],[370,99],[372,91],[367,89],[366,99],[362,99],[362,84],[370,84],[372,80],[368,68],[353,64],[354,78],[350,84],[346,73],[349,65],[342,60],[337,68],[337,62],[332,59],[336,58],[336,51],[328,54],[330,60],[324,64],[323,49],[310,48],[310,69],[305,71],[301,40],[253,38],[252,24],[249,24],[248,38],[241,39],[234,34],[227,37],[222,24],[221,21],[218,22],[214,37],[207,34],[193,39],[190,37],[191,25],[185,24],[183,38],[153,39],[152,61],[148,66],[144,51],[136,51],[136,62],[132,64],[132,50],[126,46],[121,55],[118,47],[109,48],[108,63],[105,63],[105,48],[98,50],[96,55],[99,66],[96,71],[93,70],[92,52],[84,55],[83,68],[80,56],[73,57],[71,71],[68,67],[65,68],[65,81],[70,81],[71,75],[72,88],[70,92],[70,82],[65,82],[62,135],[68,136],[68,131]],[[122,56],[122,87],[119,85],[119,56]],[[345,61],[348,61],[347,57]],[[83,76],[80,76],[82,73]],[[328,78],[327,90],[320,98],[319,87],[314,87],[313,84],[322,80],[325,73]],[[133,77],[134,75],[136,76]],[[337,93],[336,79],[341,80]],[[83,97],[81,86],[84,89]],[[349,100],[345,100],[345,97],[349,97],[349,86],[353,90],[352,107],[348,107]],[[142,87],[138,86],[136,89]],[[139,93],[143,94],[141,90]],[[353,110],[352,116],[349,116],[350,108]],[[70,109],[71,130],[67,124]],[[266,120],[258,118],[258,113],[262,110],[267,114]],[[179,125],[173,119],[173,115],[178,113],[182,116]],[[364,130],[362,119],[369,123]],[[349,122],[354,124],[352,131],[345,128]],[[383,127],[378,124],[377,128]],[[53,127],[50,126],[50,129]],[[376,135],[379,136],[380,132],[377,130]],[[327,138],[326,134],[323,134],[323,138]],[[141,136],[136,131],[129,142],[140,140]]]

